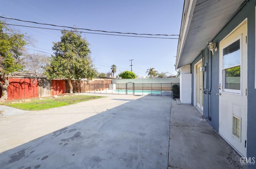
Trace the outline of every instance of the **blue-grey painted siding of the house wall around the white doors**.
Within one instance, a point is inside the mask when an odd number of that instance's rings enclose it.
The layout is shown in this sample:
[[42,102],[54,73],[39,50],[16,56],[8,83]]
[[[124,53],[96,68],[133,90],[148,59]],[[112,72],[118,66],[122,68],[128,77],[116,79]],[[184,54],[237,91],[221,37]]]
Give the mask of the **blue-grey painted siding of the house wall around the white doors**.
[[[220,41],[228,35],[236,26],[247,18],[248,23],[248,89],[247,89],[247,157],[256,157],[256,89],[255,82],[255,6],[256,0],[250,0],[232,20],[218,33],[212,37],[213,42],[219,47]],[[217,24],[217,23],[214,23]],[[203,49],[202,49],[203,50]],[[204,65],[207,71],[204,73],[204,117],[208,122],[219,130],[219,49],[214,55],[204,49]],[[194,65],[199,59],[191,64],[192,88],[194,88]],[[194,101],[194,90],[192,90],[192,102]],[[209,115],[208,115],[209,114]],[[255,166],[249,166],[255,167]]]

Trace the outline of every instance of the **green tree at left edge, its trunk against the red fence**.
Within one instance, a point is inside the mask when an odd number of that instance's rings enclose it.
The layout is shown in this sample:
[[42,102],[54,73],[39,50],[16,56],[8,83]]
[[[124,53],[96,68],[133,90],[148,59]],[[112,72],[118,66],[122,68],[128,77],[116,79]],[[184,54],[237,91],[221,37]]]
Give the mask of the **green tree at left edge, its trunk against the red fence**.
[[0,82],[2,90],[0,101],[5,101],[8,97],[8,74],[20,71],[23,68],[23,65],[20,63],[20,55],[22,55],[25,45],[26,39],[24,34],[14,32],[0,21],[0,77],[4,82]]

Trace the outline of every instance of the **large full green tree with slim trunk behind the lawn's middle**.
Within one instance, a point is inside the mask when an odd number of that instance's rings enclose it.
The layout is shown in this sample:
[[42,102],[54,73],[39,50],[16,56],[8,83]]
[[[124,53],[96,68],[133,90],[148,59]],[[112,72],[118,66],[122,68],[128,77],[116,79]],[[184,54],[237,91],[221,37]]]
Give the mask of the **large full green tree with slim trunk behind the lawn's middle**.
[[45,73],[51,79],[66,78],[73,92],[71,79],[92,78],[96,76],[96,70],[90,57],[89,43],[82,38],[81,33],[74,31],[61,31],[59,42],[54,42],[52,50],[54,55],[50,64],[45,68]]

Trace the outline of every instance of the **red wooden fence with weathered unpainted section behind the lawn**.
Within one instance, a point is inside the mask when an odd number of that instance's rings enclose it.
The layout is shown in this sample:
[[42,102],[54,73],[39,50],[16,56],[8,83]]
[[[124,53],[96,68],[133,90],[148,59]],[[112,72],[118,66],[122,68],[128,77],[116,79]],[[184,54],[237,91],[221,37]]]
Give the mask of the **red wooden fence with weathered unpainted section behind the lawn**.
[[[2,79],[0,79],[0,83],[3,83]],[[100,81],[72,80],[73,92],[86,92],[87,91],[86,84],[102,84],[102,83],[111,84],[111,80],[100,80]],[[45,92],[43,90],[43,93],[39,94],[39,91],[42,92],[41,91],[42,88],[49,92]],[[63,94],[65,92],[69,92],[69,86],[68,86],[68,81],[64,79],[46,80],[45,82],[45,81],[42,81],[42,79],[38,80],[38,79],[29,79],[26,77],[10,77],[7,92],[8,92],[7,100],[37,98],[39,97],[39,95],[42,96],[42,94],[47,96],[54,96],[54,95]],[[0,94],[1,93],[2,93],[2,90],[0,89]]]

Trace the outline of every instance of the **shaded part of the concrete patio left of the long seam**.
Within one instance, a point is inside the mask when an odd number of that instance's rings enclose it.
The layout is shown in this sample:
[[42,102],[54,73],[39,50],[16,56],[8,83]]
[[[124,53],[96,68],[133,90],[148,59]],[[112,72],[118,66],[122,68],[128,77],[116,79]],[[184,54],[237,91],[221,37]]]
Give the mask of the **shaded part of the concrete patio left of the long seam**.
[[171,100],[159,96],[130,100],[0,153],[0,166],[2,169],[167,168]]

